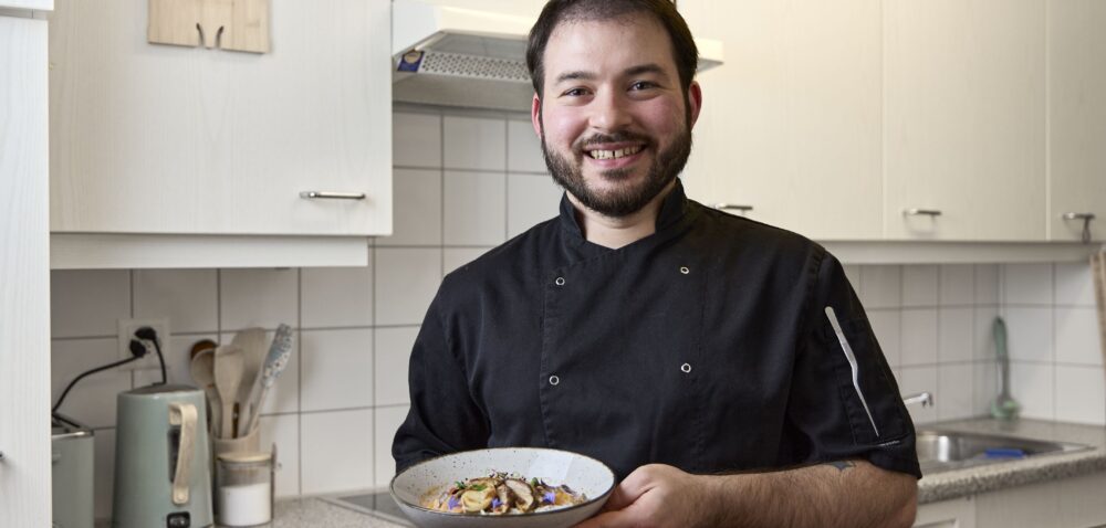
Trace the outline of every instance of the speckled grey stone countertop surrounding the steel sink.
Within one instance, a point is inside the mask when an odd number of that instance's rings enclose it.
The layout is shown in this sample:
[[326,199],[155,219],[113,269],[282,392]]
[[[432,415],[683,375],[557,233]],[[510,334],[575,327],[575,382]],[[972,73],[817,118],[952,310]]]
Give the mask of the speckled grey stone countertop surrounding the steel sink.
[[988,418],[938,422],[918,425],[917,429],[918,431],[940,430],[1019,436],[1091,446],[1089,450],[1085,451],[1052,453],[983,466],[924,474],[921,481],[918,481],[919,504],[1106,472],[1106,427],[1100,425],[1077,425],[1040,420],[1002,422]]

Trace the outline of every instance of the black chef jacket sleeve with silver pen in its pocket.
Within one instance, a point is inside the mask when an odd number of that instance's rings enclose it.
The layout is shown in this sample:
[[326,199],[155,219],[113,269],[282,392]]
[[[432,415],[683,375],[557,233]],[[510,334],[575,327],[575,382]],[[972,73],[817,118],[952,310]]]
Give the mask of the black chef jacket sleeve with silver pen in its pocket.
[[[815,258],[816,279],[804,307],[806,335],[796,350],[784,456],[793,463],[865,458],[921,477],[915,431],[859,299],[839,262]],[[842,336],[826,307],[839,321]],[[851,365],[852,352],[855,359]]]

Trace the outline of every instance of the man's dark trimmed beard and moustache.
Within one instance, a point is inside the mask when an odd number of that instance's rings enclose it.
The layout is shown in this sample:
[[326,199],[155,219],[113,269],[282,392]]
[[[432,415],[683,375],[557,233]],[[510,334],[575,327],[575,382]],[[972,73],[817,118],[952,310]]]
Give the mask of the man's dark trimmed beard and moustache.
[[[545,157],[545,166],[550,169],[550,173],[553,175],[553,181],[576,197],[584,207],[604,217],[622,218],[640,211],[641,208],[653,201],[660,191],[665,190],[679,176],[684,170],[684,166],[687,165],[688,157],[691,155],[691,131],[690,126],[688,126],[685,127],[682,134],[675,138],[670,147],[657,154],[653,165],[649,166],[645,181],[638,186],[608,193],[599,193],[588,189],[580,166],[573,166],[568,159],[550,150],[545,145],[544,123],[541,126],[542,155]],[[622,141],[643,141],[646,148],[656,148],[656,142],[651,138],[629,133],[591,137],[587,141],[581,142],[581,146],[588,142]],[[573,150],[582,151],[578,147]],[[582,156],[587,155],[582,154]],[[603,171],[602,177],[607,180],[620,180],[627,178],[629,173],[630,169],[613,169]]]

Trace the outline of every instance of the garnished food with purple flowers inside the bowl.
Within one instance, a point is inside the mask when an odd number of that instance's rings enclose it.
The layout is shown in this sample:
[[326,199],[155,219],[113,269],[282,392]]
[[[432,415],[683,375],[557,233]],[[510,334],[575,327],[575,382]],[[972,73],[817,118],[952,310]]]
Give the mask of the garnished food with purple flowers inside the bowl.
[[430,489],[422,506],[451,514],[519,515],[549,511],[587,501],[565,484],[553,486],[536,477],[508,473],[457,481]]

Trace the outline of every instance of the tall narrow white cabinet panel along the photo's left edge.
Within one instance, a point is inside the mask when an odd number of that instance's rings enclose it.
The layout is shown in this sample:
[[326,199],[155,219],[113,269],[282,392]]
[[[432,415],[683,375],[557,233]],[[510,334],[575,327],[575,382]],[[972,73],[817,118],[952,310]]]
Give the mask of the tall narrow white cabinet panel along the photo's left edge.
[[[0,526],[50,526],[49,2],[0,0]],[[35,18],[39,17],[39,18]]]

